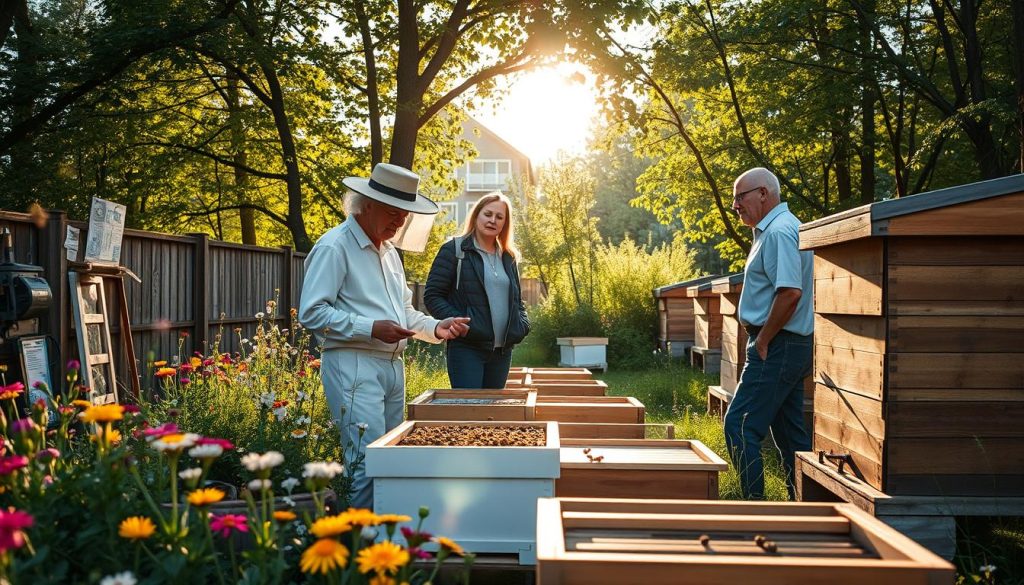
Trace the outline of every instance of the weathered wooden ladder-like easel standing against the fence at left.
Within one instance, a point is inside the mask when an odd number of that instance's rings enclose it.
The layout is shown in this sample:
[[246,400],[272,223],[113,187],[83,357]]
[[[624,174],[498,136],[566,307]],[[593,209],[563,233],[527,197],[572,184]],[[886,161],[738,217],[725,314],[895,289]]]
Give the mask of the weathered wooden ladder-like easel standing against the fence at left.
[[[121,350],[128,363],[129,391],[138,399],[138,366],[132,341],[124,276],[131,271],[123,266],[106,266],[90,262],[69,262],[68,283],[71,287],[72,315],[78,354],[82,363],[79,375],[82,384],[93,390],[93,404],[118,402],[117,372],[114,347],[111,344],[110,316],[106,309],[105,284],[113,285],[115,302],[121,314]],[[131,275],[134,277],[134,275]],[[137,278],[137,277],[136,277]]]

